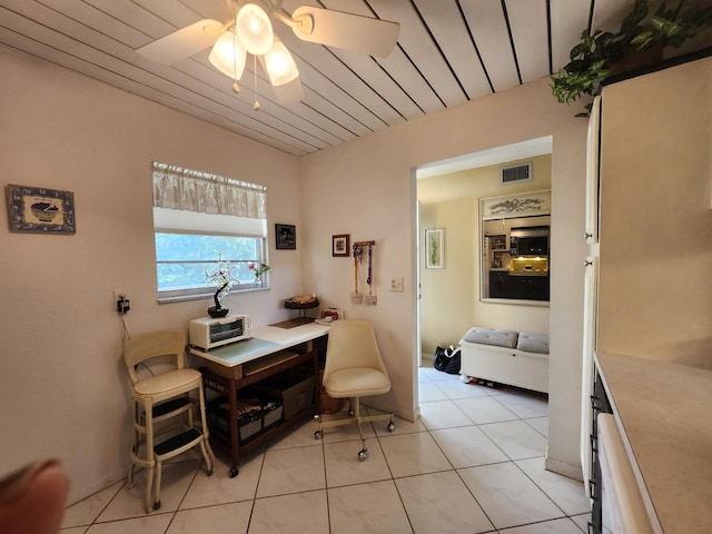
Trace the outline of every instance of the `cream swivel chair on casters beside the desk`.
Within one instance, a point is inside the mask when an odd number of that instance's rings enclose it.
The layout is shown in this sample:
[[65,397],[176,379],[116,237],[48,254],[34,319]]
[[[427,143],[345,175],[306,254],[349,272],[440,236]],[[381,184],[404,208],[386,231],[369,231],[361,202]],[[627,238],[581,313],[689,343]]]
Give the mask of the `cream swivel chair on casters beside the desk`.
[[350,399],[348,419],[322,421],[314,437],[320,439],[324,428],[355,424],[362,441],[358,459],[368,457],[362,423],[389,421],[388,432],[395,429],[393,414],[360,415],[363,396],[384,395],[390,390],[390,378],[380,357],[376,335],[368,320],[335,320],[329,327],[329,340],[324,367],[324,388],[332,398]]

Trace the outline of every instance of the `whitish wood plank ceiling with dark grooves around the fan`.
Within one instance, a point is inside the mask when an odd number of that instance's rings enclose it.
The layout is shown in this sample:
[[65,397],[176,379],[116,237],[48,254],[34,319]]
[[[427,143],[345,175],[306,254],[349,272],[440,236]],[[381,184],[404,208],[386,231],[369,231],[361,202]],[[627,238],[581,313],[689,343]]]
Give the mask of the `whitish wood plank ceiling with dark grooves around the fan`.
[[301,41],[275,22],[306,92],[289,106],[251,60],[235,93],[209,50],[170,67],[136,53],[200,19],[227,21],[225,0],[0,0],[0,42],[300,156],[547,77],[584,28],[610,27],[632,2],[283,0],[285,13],[313,4],[400,24],[379,59]]

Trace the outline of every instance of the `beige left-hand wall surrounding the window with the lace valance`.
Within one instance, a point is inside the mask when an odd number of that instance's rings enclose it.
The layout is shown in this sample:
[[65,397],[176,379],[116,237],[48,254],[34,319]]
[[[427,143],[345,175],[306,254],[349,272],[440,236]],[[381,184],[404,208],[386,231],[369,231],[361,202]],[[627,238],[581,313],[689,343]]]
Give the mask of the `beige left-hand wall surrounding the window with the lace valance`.
[[[210,305],[156,301],[151,160],[266,185],[270,234],[299,221],[297,160],[1,47],[0,70],[3,186],[73,191],[77,211],[76,235],[44,236],[8,233],[0,208],[0,469],[58,456],[73,501],[128,468],[113,291],[131,300],[131,335],[187,328]],[[273,246],[270,263],[271,290],[227,297],[258,325],[287,318],[279,299],[301,290],[300,249]]]

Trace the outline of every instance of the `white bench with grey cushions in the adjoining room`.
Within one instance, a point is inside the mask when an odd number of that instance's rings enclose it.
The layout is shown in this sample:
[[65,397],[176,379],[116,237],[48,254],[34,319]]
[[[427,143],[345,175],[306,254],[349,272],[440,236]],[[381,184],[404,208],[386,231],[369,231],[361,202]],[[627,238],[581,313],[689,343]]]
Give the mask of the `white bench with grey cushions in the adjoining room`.
[[548,393],[548,336],[473,327],[459,340],[461,375]]

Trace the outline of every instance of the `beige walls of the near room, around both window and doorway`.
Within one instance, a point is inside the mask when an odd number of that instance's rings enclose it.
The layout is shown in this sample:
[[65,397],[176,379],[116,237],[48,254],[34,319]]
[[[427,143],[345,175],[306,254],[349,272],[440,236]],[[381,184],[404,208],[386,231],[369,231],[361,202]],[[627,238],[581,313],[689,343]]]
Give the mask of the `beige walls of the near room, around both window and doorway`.
[[[113,291],[131,298],[134,335],[185,327],[207,300],[155,299],[149,164],[154,159],[268,187],[274,222],[297,225],[297,250],[270,250],[270,291],[228,297],[256,325],[289,316],[279,300],[316,293],[376,325],[394,378],[389,406],[417,415],[414,169],[431,161],[553,136],[552,394],[548,464],[576,472],[583,293],[585,122],[547,80],[296,159],[61,68],[0,48],[0,159],[6,184],[75,191],[75,236],[0,230],[3,306],[0,469],[60,457],[76,501],[128,466],[128,380]],[[295,199],[298,199],[296,201]],[[4,208],[2,208],[4,210]],[[4,218],[4,212],[0,214]],[[377,241],[378,305],[352,305],[353,261],[332,236]],[[573,244],[573,245],[572,245]],[[564,275],[566,274],[566,275]],[[388,280],[403,277],[404,293]],[[564,285],[565,284],[565,285]]]

